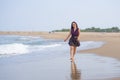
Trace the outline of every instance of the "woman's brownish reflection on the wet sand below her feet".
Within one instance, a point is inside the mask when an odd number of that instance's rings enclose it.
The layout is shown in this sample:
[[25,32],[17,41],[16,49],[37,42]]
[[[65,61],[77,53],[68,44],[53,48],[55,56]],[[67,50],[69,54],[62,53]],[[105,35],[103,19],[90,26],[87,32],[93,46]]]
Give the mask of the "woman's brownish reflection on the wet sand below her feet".
[[71,62],[71,80],[81,80],[80,70],[77,69],[74,61]]

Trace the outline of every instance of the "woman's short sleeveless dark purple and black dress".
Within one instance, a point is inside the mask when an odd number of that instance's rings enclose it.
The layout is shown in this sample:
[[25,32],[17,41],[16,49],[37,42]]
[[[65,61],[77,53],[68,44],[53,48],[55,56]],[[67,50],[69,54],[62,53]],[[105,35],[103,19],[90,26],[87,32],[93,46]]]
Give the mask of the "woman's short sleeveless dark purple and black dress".
[[76,31],[74,31],[74,29],[71,30],[71,38],[69,39],[69,45],[70,46],[75,46],[75,47],[79,47],[80,46],[80,42],[78,41],[78,36],[79,36],[79,29],[76,29]]

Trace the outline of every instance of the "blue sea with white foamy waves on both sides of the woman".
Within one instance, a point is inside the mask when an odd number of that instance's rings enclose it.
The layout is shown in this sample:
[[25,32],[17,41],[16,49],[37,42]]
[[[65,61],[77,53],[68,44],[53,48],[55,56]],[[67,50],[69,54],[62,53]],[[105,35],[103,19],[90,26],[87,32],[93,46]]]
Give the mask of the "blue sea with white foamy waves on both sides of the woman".
[[[105,42],[95,41],[81,41],[80,43],[78,50],[99,48],[105,44]],[[32,36],[0,35],[0,57],[35,53],[45,54],[52,51],[68,53],[68,42]]]

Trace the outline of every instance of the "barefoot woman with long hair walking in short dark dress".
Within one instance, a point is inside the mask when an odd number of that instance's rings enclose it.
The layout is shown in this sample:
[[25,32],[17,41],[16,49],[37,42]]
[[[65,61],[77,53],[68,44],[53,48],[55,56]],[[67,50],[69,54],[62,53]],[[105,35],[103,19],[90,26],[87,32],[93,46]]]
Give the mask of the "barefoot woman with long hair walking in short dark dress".
[[76,48],[80,46],[79,39],[80,39],[80,29],[78,28],[78,25],[76,22],[71,23],[71,30],[69,32],[69,35],[64,41],[67,41],[69,39],[69,46],[70,46],[70,59],[74,61],[74,56],[76,54]]

